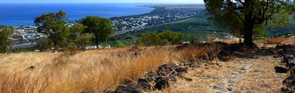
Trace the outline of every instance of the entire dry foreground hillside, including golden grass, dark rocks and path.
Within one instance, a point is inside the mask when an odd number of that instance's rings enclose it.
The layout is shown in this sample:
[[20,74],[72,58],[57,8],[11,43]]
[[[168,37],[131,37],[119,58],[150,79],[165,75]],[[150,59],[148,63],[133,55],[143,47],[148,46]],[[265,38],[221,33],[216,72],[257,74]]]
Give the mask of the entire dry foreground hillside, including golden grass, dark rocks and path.
[[256,44],[262,48],[222,42],[98,49],[73,56],[1,54],[0,92],[278,93],[288,87],[282,81],[293,74],[280,57],[286,49],[262,47],[261,41]]

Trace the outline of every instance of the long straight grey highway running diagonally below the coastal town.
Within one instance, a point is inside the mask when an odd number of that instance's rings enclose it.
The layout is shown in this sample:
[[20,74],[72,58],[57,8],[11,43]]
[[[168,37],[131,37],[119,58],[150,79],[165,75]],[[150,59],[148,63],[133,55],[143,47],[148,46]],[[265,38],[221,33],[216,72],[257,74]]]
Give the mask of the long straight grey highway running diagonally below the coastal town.
[[134,30],[143,30],[143,29],[146,29],[146,28],[159,27],[159,26],[163,26],[163,25],[166,25],[166,24],[179,23],[179,22],[188,21],[188,20],[191,20],[191,19],[195,19],[195,18],[189,18],[189,19],[180,20],[180,21],[173,21],[173,22],[169,22],[169,23],[163,23],[163,24],[158,24],[158,25],[153,25],[153,26],[148,26],[148,27],[142,27],[142,28],[133,29],[133,30],[122,30],[122,31],[119,31],[119,32],[117,32],[117,33],[115,33],[113,35],[119,35],[119,34],[123,34],[123,33],[126,33],[126,32],[134,31]]

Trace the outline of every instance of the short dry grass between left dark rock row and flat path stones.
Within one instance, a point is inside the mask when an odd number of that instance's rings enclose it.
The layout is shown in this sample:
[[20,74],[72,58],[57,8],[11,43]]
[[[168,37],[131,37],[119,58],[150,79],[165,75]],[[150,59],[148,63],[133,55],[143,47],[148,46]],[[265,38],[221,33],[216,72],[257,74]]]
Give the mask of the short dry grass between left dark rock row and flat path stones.
[[193,81],[178,78],[178,81],[170,83],[170,88],[151,93],[216,93],[218,91],[213,89],[213,86],[216,86],[219,81],[223,81],[225,83],[227,81],[213,78],[224,78],[231,72],[231,69],[226,67],[226,63],[217,63],[223,67],[211,65],[209,66],[210,69],[205,69],[204,66],[191,69],[190,72],[185,74],[185,77],[192,78]]

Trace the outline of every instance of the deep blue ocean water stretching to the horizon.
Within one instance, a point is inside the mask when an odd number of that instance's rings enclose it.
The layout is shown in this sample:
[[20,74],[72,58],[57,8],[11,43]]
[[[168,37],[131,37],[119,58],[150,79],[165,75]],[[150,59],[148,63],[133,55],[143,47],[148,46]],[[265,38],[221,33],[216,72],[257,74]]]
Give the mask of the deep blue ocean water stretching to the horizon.
[[110,18],[114,16],[137,15],[151,12],[154,8],[133,7],[144,3],[29,3],[0,4],[0,25],[34,24],[34,18],[46,13],[56,13],[63,10],[70,20],[99,16]]

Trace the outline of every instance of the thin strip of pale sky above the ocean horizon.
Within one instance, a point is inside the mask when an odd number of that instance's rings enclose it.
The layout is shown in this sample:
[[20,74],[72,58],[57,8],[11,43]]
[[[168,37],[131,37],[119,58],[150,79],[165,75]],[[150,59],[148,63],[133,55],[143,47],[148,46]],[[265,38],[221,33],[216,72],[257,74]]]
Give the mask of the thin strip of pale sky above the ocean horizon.
[[0,3],[194,3],[203,0],[0,0]]

